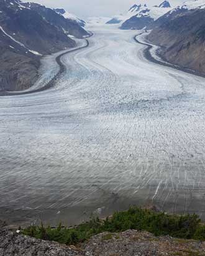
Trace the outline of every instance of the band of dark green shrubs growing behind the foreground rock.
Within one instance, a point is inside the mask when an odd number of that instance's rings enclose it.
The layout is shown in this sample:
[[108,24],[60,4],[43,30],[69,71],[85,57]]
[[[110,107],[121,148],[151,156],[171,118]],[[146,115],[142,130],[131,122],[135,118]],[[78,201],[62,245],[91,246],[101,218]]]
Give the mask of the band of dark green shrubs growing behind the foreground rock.
[[93,218],[89,222],[80,224],[75,228],[63,228],[61,224],[57,229],[31,226],[22,232],[44,240],[54,240],[62,244],[78,244],[89,239],[92,235],[101,232],[121,232],[127,229],[148,231],[155,235],[171,235],[184,239],[205,240],[205,226],[199,224],[200,219],[193,215],[169,215],[157,213],[148,209],[132,207],[128,211],[114,213],[111,218],[101,221]]

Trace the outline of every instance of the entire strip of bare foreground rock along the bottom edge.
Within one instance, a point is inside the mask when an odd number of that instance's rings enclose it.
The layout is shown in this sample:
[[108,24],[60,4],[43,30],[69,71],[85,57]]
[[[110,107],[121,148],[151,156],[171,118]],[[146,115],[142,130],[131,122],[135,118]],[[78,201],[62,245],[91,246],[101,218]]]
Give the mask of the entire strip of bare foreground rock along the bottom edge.
[[34,239],[6,229],[0,229],[0,256],[204,256],[205,242],[155,237],[134,230],[122,233],[102,233],[78,245]]

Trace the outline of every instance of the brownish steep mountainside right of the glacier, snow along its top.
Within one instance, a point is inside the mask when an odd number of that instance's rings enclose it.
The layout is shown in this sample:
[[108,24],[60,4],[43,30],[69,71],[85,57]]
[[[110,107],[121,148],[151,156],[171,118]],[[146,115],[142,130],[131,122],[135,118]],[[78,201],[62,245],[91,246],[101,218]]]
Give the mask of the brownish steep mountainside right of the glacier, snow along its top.
[[205,2],[185,2],[160,17],[148,40],[163,46],[161,55],[171,63],[205,73]]

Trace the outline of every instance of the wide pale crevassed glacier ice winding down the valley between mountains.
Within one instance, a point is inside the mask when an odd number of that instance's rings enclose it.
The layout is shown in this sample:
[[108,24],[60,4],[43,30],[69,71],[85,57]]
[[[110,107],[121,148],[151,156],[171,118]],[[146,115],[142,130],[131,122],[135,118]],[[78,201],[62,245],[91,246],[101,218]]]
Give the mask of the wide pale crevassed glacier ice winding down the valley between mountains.
[[205,219],[204,78],[145,60],[140,31],[89,30],[55,87],[1,97],[0,219],[73,224],[152,203]]

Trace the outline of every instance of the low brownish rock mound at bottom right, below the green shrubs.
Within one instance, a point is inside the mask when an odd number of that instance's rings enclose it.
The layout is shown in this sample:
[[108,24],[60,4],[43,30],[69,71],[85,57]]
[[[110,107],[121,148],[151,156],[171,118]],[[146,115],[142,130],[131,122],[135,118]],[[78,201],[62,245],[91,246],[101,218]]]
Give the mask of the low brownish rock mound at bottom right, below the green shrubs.
[[194,240],[155,237],[148,232],[126,231],[121,234],[103,233],[85,245],[93,256],[191,256],[205,255],[205,243]]

